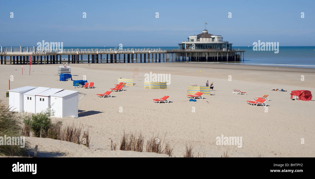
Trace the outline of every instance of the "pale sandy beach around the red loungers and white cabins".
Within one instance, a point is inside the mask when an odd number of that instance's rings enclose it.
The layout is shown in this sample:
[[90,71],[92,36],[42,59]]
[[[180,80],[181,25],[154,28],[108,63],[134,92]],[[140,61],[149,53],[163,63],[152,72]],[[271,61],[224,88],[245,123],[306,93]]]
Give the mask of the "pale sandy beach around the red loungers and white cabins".
[[[230,157],[314,157],[315,156],[315,101],[292,101],[292,90],[315,92],[315,69],[276,66],[253,66],[214,63],[116,63],[116,64],[70,64],[73,80],[86,75],[88,82],[94,82],[94,89],[74,89],[72,81],[59,81],[60,64],[24,65],[23,76],[20,65],[0,65],[0,99],[9,103],[5,92],[23,86],[42,86],[78,90],[85,95],[78,103],[79,118],[61,118],[63,124],[83,124],[89,128],[91,142],[89,149],[78,150],[77,145],[66,145],[52,139],[35,141],[31,144],[57,146],[51,152],[68,153],[76,157],[156,157],[153,154],[125,151],[110,151],[111,139],[120,143],[123,130],[140,131],[146,140],[152,134],[174,146],[173,157],[183,157],[185,144],[191,143],[193,151],[206,157],[221,157],[228,150]],[[139,78],[132,78],[134,68],[139,68]],[[277,69],[278,68],[278,69]],[[201,72],[200,72],[201,71]],[[170,74],[167,89],[145,89],[146,73]],[[232,81],[228,76],[232,76]],[[305,81],[301,81],[304,75]],[[99,98],[117,78],[134,79],[136,86],[125,91],[112,92],[112,98]],[[206,81],[214,82],[211,95],[205,99],[189,101],[186,97],[188,86],[205,86]],[[284,89],[287,92],[271,91]],[[247,95],[232,94],[240,89]],[[269,95],[266,108],[246,103],[252,97]],[[169,95],[168,104],[155,104],[152,99]],[[79,97],[81,97],[79,95]],[[119,112],[122,107],[123,112]],[[192,112],[192,108],[195,112]],[[52,118],[56,120],[56,118]],[[59,118],[58,118],[59,119]],[[242,147],[216,145],[217,136],[241,136]],[[301,138],[305,144],[301,144]],[[35,145],[35,144],[34,144]],[[62,147],[61,147],[62,146]],[[49,148],[49,147],[47,147]],[[89,152],[93,151],[93,152]],[[204,151],[204,152],[203,152]],[[136,154],[135,154],[136,153]],[[61,156],[67,156],[61,155]],[[166,156],[159,154],[161,156]]]

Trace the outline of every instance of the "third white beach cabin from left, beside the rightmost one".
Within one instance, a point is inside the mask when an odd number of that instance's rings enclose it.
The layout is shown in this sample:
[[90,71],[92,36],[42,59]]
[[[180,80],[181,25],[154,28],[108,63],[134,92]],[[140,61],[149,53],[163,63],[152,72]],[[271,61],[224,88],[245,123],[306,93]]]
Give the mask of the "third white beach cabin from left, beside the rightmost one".
[[35,100],[36,100],[35,112],[40,113],[42,111],[46,111],[47,108],[48,108],[48,111],[50,112],[50,95],[53,95],[63,90],[64,89],[50,88],[50,89],[47,89],[46,91],[43,91],[35,95]]

